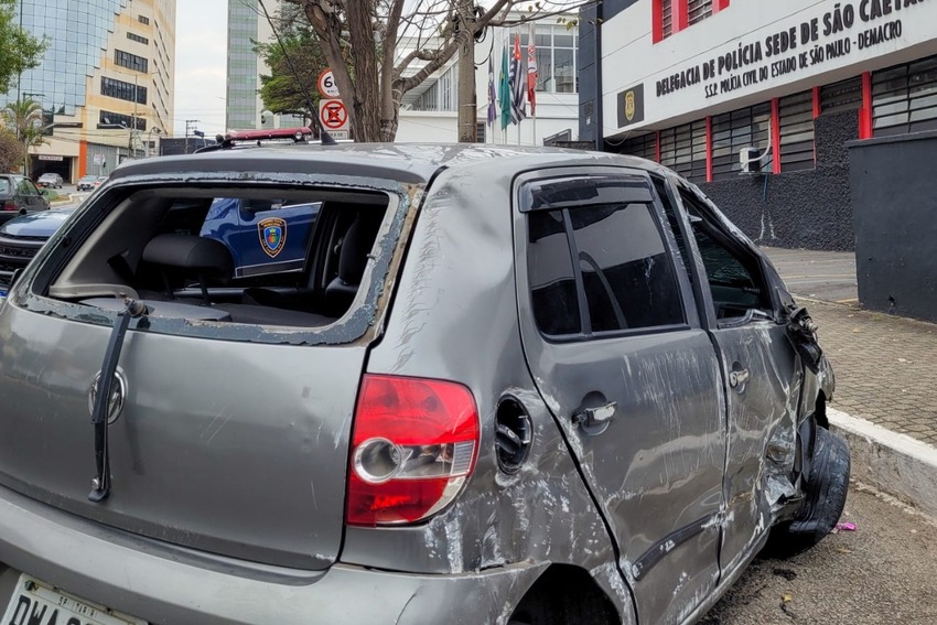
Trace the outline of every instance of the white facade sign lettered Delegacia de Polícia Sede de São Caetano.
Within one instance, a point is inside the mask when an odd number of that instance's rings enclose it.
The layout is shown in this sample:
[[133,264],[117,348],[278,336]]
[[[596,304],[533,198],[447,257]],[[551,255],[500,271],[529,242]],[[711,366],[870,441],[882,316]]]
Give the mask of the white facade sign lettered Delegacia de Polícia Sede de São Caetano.
[[[900,63],[911,46],[937,52],[934,0],[740,2],[658,44],[635,25],[640,14],[633,7],[603,26],[603,39],[618,45],[603,64],[623,68],[603,80],[605,106],[616,106],[618,129],[686,119],[794,83],[821,86],[822,74],[836,73],[829,80],[834,82],[847,77],[841,69],[855,66],[858,75],[865,61],[895,56]],[[713,45],[724,37],[729,43]],[[644,62],[626,62],[633,58]]]

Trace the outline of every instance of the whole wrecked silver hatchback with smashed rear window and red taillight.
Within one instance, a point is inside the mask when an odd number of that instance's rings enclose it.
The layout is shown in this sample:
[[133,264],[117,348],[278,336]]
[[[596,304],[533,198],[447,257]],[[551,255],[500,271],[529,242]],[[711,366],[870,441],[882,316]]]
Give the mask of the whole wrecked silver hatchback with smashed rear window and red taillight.
[[[302,270],[238,276],[219,197],[316,206]],[[809,315],[639,159],[130,163],[18,276],[0,352],[4,625],[692,623],[846,502]]]

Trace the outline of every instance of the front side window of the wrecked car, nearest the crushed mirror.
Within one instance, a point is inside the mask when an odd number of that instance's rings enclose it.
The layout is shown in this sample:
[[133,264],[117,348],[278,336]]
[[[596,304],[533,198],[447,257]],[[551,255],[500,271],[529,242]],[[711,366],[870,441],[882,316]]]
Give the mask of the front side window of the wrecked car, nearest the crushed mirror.
[[680,188],[680,200],[706,268],[717,319],[744,317],[753,310],[771,311],[771,298],[757,258],[745,254],[741,244],[733,245],[692,193]]

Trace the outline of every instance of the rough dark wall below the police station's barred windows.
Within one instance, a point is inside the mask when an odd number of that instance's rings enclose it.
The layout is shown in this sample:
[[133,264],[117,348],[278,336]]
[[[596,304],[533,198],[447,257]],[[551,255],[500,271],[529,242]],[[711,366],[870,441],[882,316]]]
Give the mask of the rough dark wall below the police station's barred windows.
[[755,241],[784,248],[853,249],[847,141],[859,137],[859,114],[821,115],[815,121],[812,170],[739,174],[699,187]]

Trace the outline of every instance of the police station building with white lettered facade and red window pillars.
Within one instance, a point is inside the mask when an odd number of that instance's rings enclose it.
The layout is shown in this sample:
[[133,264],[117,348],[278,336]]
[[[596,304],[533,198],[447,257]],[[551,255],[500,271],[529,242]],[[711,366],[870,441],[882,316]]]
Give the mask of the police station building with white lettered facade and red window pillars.
[[937,130],[937,0],[603,0],[580,36],[580,139],[765,245],[853,249],[852,142]]

